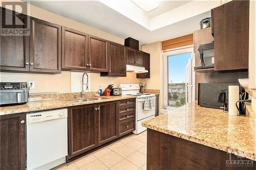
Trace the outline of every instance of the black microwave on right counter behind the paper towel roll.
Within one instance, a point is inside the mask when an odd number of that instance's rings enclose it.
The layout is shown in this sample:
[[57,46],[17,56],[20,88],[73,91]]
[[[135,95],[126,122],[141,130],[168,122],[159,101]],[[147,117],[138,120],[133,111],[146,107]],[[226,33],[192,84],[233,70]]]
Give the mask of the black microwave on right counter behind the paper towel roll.
[[218,102],[220,91],[228,91],[228,86],[239,83],[198,83],[198,105],[202,107],[221,109],[223,104]]

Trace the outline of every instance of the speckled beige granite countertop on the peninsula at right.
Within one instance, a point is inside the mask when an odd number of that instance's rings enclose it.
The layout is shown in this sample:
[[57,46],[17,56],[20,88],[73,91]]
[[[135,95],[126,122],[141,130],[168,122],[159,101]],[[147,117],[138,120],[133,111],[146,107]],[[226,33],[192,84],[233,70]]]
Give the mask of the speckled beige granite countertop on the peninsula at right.
[[256,161],[256,131],[250,119],[193,102],[146,120],[142,126]]

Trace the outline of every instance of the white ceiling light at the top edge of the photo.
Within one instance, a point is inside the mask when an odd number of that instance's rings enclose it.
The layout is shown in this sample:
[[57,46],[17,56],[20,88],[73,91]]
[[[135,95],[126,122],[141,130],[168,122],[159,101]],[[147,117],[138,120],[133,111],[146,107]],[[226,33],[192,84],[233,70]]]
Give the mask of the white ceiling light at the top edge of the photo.
[[156,1],[145,1],[145,0],[131,0],[135,5],[140,7],[145,12],[150,12],[159,6]]

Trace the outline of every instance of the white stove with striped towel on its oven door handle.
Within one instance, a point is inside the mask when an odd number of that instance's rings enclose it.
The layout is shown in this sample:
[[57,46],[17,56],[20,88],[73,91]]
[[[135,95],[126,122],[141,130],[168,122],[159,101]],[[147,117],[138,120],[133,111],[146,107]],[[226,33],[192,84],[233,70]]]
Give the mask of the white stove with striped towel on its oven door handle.
[[145,120],[155,117],[156,96],[155,94],[140,93],[138,84],[120,84],[122,95],[136,96],[136,129],[133,131],[139,134],[146,130],[141,123]]

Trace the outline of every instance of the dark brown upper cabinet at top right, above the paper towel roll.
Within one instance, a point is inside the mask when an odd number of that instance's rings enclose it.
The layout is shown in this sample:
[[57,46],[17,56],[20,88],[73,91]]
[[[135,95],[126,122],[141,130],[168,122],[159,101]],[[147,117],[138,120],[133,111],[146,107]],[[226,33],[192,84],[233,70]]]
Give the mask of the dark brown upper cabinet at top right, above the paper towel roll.
[[249,1],[231,1],[211,11],[215,70],[248,69]]

